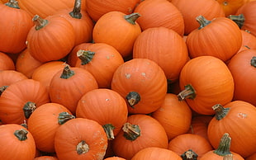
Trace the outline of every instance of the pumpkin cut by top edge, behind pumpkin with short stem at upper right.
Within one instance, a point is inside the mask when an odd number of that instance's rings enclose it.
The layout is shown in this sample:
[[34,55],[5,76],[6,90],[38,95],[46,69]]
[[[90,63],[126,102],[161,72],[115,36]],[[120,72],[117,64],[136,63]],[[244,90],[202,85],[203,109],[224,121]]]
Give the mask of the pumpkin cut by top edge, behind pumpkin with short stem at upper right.
[[183,15],[184,35],[189,35],[190,32],[200,26],[195,21],[199,15],[210,20],[225,16],[223,9],[216,0],[172,0],[171,2]]

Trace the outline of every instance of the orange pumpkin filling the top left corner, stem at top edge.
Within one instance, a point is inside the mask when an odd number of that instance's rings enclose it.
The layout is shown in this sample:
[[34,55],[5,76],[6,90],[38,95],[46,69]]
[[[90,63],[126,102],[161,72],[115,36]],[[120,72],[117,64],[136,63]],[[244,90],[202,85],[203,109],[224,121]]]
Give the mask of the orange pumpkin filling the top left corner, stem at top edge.
[[[0,4],[0,52],[18,54],[26,48],[26,36],[33,26],[31,16],[19,7],[17,1]],[[12,17],[12,18],[9,18]]]

